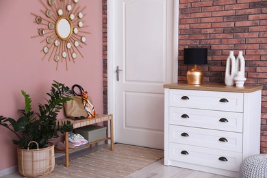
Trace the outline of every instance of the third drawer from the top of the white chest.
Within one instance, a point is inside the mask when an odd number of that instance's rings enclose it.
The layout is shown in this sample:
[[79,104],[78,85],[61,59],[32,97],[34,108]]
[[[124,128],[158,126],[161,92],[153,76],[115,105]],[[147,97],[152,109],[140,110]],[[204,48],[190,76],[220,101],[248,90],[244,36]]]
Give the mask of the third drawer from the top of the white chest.
[[169,141],[199,147],[242,152],[242,133],[169,125]]

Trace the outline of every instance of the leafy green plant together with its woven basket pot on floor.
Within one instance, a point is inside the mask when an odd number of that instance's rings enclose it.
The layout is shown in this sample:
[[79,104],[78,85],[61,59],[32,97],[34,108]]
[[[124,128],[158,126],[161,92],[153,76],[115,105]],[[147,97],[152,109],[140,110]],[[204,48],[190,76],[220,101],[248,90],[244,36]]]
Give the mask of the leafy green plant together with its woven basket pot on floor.
[[18,170],[21,175],[47,175],[55,166],[54,146],[49,141],[58,138],[58,131],[64,133],[73,130],[71,122],[60,124],[57,121],[63,103],[72,99],[71,90],[68,86],[54,81],[50,93],[47,93],[50,97],[46,99],[47,103],[38,104],[39,112],[31,110],[29,94],[23,90],[21,93],[25,99],[25,109],[19,110],[22,116],[17,120],[0,116],[0,125],[17,136],[17,139],[12,141],[18,146]]

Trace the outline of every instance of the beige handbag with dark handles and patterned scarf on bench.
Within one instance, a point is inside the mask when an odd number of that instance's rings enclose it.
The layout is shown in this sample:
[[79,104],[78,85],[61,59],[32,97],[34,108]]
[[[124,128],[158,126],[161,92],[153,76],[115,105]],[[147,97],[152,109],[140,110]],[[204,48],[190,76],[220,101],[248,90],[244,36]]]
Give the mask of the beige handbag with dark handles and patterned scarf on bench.
[[[79,88],[81,94],[75,92],[75,88]],[[95,110],[92,105],[90,97],[88,97],[87,92],[84,88],[75,84],[73,85],[73,99],[71,101],[66,101],[64,103],[65,115],[67,118],[74,118],[75,120],[84,118],[94,118]]]

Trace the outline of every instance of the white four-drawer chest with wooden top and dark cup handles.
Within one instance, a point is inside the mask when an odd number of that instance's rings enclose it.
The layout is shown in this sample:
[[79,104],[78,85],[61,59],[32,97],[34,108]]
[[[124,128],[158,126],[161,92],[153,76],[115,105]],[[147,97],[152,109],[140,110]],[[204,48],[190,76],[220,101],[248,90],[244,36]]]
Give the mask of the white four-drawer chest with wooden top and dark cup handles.
[[259,154],[262,86],[164,88],[164,164],[238,177]]

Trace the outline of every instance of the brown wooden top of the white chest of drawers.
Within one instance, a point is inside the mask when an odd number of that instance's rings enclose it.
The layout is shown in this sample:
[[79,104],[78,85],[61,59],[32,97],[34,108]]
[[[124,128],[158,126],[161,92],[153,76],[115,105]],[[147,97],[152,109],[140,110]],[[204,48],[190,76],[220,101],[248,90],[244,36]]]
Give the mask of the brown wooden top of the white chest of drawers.
[[225,86],[223,84],[202,84],[202,85],[188,85],[185,83],[165,84],[164,88],[183,89],[183,90],[206,90],[218,92],[255,92],[262,90],[263,86],[244,86],[238,88],[236,86]]

